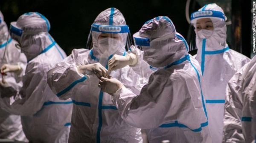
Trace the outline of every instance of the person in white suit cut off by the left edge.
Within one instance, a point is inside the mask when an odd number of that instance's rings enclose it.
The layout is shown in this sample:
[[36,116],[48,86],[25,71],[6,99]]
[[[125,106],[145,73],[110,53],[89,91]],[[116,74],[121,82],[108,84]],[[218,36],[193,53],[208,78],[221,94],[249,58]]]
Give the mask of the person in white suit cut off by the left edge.
[[[20,49],[15,44],[17,42],[9,36],[8,27],[0,11],[0,67],[4,64],[7,64],[5,66],[11,67],[12,71],[9,71],[9,73],[5,71],[4,82],[9,83],[16,89],[20,89],[22,87],[22,76],[26,69],[26,56],[20,54]],[[6,54],[4,55],[5,51]],[[0,77],[0,80],[3,80],[2,77]],[[4,94],[1,92],[0,96],[2,97]],[[22,130],[20,116],[4,111],[1,109],[1,106],[0,138],[27,141]]]

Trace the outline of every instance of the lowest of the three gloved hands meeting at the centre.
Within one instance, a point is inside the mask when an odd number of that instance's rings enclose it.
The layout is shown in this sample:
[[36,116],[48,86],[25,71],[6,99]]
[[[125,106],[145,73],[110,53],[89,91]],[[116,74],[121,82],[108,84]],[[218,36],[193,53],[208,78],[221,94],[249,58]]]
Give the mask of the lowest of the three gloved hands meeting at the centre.
[[[102,77],[99,80],[99,88],[102,88],[102,92],[107,92],[109,94],[116,93],[118,89],[125,87],[119,80],[114,77],[108,76],[108,78]],[[113,94],[111,94],[113,96]]]

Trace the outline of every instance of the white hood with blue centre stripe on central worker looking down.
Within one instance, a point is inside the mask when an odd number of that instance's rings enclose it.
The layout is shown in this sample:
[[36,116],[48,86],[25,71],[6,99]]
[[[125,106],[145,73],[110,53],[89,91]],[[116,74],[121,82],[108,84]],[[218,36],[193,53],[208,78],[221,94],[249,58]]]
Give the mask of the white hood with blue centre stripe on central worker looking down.
[[[99,59],[99,63],[106,65],[111,55],[123,55],[126,51],[125,44],[129,32],[129,27],[126,25],[125,18],[118,9],[109,8],[102,11],[94,20],[91,28],[93,56]],[[119,34],[121,41],[118,41],[118,43],[115,44],[118,46],[114,49],[102,47],[99,44],[99,35],[102,33]],[[109,39],[113,40],[113,38]]]

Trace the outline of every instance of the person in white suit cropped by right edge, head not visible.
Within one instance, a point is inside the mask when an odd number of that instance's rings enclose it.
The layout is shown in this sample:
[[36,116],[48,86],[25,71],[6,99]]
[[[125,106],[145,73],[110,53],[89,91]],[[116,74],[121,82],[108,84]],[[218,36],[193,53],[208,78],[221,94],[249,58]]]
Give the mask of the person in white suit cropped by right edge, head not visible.
[[256,141],[256,57],[227,83],[222,143]]

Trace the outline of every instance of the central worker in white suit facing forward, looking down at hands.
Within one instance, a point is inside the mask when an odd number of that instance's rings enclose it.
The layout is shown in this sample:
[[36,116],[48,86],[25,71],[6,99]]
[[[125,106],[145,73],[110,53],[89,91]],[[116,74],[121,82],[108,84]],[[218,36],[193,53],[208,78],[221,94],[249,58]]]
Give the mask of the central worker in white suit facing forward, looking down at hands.
[[[98,88],[99,78],[106,77],[107,63],[113,54],[136,58],[125,50],[128,34],[122,13],[116,8],[106,9],[91,26],[93,48],[74,49],[48,72],[52,91],[62,100],[73,100],[69,143],[142,143],[141,129],[126,123],[111,102],[111,95]],[[143,87],[140,75],[130,66],[109,74],[136,94]]]

